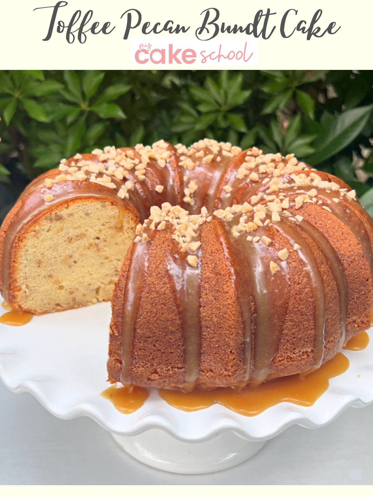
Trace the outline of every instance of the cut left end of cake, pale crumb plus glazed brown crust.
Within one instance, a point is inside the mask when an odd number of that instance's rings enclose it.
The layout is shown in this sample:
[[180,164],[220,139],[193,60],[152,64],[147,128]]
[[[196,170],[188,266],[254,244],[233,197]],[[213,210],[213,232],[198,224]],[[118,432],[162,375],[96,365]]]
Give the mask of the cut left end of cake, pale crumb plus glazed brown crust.
[[40,315],[111,299],[138,216],[116,192],[88,185],[38,188],[8,214],[0,287],[12,308]]

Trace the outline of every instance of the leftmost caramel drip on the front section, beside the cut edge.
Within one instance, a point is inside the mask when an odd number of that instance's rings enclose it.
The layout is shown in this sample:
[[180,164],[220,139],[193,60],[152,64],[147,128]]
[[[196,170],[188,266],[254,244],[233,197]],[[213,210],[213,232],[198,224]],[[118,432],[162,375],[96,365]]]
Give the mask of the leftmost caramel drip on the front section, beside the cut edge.
[[125,386],[132,383],[132,355],[135,341],[136,321],[141,304],[149,259],[149,244],[136,242],[132,245],[130,263],[123,297],[122,320],[122,371],[120,381]]

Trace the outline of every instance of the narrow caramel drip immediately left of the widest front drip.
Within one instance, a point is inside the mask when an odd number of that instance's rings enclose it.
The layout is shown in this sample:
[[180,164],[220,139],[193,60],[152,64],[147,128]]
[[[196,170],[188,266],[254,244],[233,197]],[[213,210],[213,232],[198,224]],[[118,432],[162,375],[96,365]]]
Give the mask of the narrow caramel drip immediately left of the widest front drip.
[[[250,362],[251,362],[251,333],[252,333],[252,319],[251,319],[251,302],[250,298],[253,294],[252,289],[252,268],[250,261],[247,259],[247,244],[248,241],[245,237],[240,236],[238,239],[232,239],[229,236],[225,223],[216,223],[216,230],[224,250],[226,260],[229,264],[232,281],[235,287],[236,298],[240,304],[241,319],[243,323],[242,335],[242,352],[243,352],[243,379],[239,387],[244,387],[250,379]],[[236,242],[236,243],[234,243]],[[233,260],[236,260],[236,268]],[[240,270],[237,270],[237,267]],[[244,291],[247,288],[247,292]]]

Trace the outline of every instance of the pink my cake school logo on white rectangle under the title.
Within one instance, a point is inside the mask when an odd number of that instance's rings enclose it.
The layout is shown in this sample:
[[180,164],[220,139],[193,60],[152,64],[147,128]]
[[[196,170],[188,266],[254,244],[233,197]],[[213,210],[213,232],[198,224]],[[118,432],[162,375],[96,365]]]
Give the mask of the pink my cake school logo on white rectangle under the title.
[[131,66],[219,66],[257,64],[257,40],[234,38],[200,41],[195,38],[131,38]]

